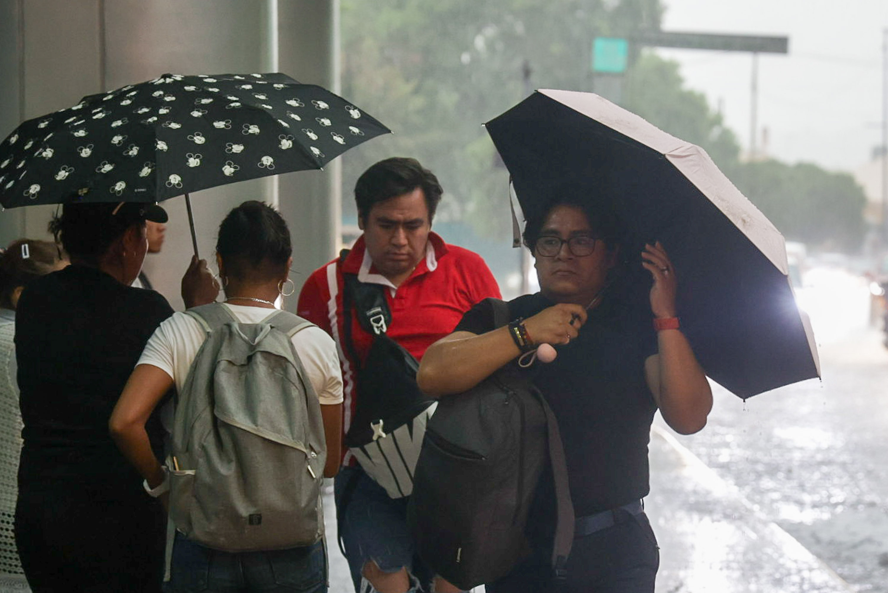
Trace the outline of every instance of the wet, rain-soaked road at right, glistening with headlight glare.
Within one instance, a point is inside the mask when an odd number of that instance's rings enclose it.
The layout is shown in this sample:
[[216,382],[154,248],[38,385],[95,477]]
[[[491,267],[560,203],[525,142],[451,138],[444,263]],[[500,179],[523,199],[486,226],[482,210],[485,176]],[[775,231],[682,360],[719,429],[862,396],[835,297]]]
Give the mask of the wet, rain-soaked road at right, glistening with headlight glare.
[[852,590],[888,591],[888,350],[868,325],[866,283],[815,274],[802,297],[822,382],[745,403],[717,391],[709,425],[677,439]]

